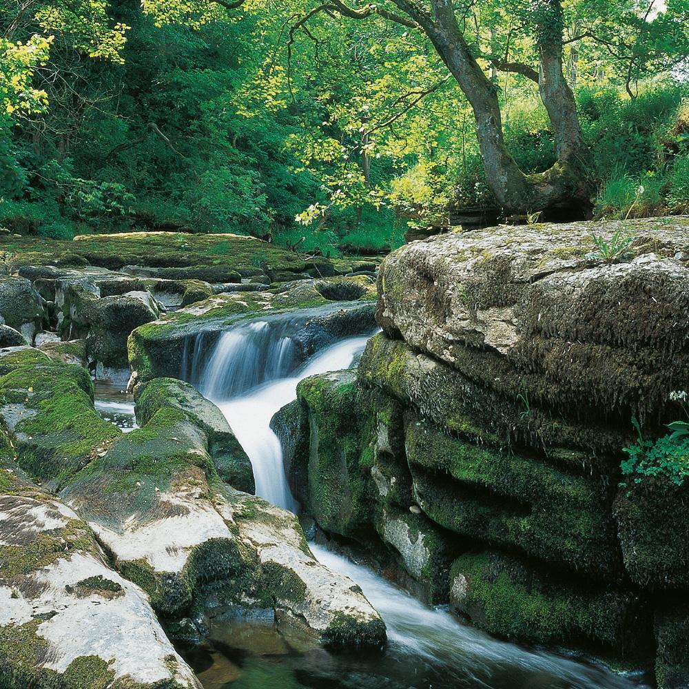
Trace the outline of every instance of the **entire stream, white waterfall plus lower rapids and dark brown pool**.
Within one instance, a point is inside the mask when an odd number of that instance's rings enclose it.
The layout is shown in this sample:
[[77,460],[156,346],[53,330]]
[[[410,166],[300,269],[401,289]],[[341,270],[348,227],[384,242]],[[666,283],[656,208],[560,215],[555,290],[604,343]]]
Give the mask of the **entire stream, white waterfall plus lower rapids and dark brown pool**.
[[[303,322],[303,319],[302,319]],[[351,337],[300,361],[298,318],[262,320],[223,333],[212,354],[185,362],[200,391],[223,411],[254,467],[256,493],[296,511],[269,423],[296,398],[302,378],[350,367],[368,336]],[[188,371],[191,369],[191,371]],[[194,380],[196,379],[196,380]],[[205,689],[626,689],[641,678],[613,675],[573,657],[497,641],[442,609],[422,604],[367,567],[311,544],[313,554],[359,584],[382,615],[388,645],[378,653],[331,653],[249,617],[212,637],[214,650],[192,651]]]

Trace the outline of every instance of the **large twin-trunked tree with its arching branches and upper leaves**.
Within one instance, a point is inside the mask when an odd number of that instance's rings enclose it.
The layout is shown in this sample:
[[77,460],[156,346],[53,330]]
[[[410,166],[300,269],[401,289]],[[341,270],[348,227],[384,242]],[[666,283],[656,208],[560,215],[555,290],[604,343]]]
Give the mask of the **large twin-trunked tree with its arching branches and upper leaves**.
[[[672,49],[675,63],[687,54],[687,24],[681,21],[688,14],[686,4],[681,0],[675,3],[671,17],[668,10],[651,18],[650,8],[626,0],[584,0],[570,14],[585,14],[587,30],[566,38],[566,16],[560,0],[489,2],[481,8],[472,1],[429,0],[422,5],[416,0],[384,0],[356,8],[342,0],[327,0],[294,23],[291,37],[323,13],[355,20],[378,18],[418,30],[433,45],[471,105],[486,181],[498,205],[508,212],[586,216],[594,191],[588,174],[591,158],[582,137],[575,96],[564,76],[564,48],[589,39],[608,52],[614,49],[618,66],[626,71],[630,91],[633,79],[659,67],[662,46]],[[624,30],[613,40],[611,28],[615,26]],[[520,55],[517,59],[515,53]],[[537,67],[532,66],[532,60]],[[668,64],[672,59],[665,59],[664,65]],[[537,84],[555,145],[555,163],[545,172],[522,172],[508,150],[496,83],[486,73],[489,67]]]

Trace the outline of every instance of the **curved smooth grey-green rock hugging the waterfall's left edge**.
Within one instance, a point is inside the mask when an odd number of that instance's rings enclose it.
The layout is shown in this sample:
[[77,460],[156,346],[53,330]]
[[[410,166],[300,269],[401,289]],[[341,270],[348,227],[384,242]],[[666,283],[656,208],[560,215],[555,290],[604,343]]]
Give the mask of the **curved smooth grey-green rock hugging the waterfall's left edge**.
[[245,493],[254,493],[251,461],[230,429],[220,409],[189,383],[175,378],[154,378],[136,387],[136,418],[147,424],[160,409],[183,411],[207,438],[208,453],[225,483]]

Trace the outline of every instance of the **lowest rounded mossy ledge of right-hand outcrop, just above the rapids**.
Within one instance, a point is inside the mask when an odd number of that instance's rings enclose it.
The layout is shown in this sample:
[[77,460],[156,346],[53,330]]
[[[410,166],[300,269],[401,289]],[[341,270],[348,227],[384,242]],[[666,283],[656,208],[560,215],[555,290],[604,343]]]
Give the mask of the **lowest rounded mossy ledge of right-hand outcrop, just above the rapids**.
[[607,649],[635,661],[652,649],[652,616],[634,593],[562,578],[495,551],[455,560],[451,605],[507,639]]

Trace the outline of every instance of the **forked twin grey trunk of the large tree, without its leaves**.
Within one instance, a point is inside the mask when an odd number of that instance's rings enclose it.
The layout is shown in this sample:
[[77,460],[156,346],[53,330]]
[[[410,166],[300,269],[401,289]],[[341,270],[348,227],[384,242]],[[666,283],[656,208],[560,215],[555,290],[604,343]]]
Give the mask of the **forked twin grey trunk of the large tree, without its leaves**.
[[[546,10],[559,0],[545,0]],[[409,11],[404,0],[397,2]],[[495,86],[469,50],[449,0],[431,0],[433,17],[417,14],[426,35],[471,105],[486,181],[506,212],[541,211],[547,216],[588,216],[593,189],[586,181],[588,151],[582,140],[572,90],[562,74],[562,33],[539,41],[539,93],[553,123],[557,163],[541,174],[524,174],[504,141]]]

